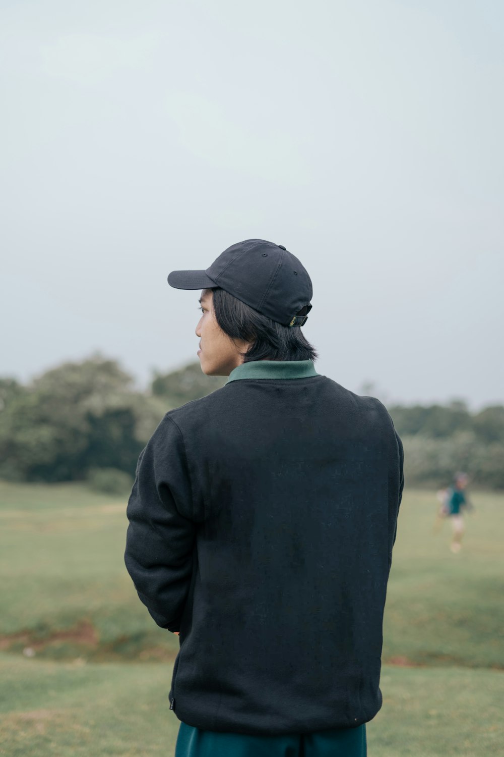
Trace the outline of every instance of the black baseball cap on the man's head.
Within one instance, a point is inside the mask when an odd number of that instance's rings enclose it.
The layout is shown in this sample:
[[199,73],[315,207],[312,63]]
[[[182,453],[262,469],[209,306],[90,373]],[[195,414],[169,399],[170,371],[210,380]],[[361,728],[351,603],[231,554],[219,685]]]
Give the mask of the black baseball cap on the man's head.
[[303,326],[311,310],[310,276],[283,245],[246,239],[224,250],[204,271],[172,271],[175,289],[220,287],[283,326]]

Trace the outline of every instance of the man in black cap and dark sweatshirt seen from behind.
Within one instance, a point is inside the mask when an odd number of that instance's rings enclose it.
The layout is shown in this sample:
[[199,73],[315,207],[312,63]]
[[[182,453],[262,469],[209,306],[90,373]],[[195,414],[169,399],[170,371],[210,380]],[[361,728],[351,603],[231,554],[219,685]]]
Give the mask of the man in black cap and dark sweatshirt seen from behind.
[[382,704],[382,617],[403,448],[379,400],[314,369],[311,279],[248,239],[169,284],[201,289],[207,375],[138,461],[125,562],[180,633],[176,757],[363,757]]

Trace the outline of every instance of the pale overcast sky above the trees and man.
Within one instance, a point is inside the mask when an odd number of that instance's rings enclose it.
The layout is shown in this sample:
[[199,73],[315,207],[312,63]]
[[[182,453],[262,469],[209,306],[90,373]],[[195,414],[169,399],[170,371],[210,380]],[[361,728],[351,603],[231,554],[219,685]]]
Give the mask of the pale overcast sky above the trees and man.
[[197,360],[205,269],[308,269],[319,372],[504,402],[504,3],[2,0],[2,349]]

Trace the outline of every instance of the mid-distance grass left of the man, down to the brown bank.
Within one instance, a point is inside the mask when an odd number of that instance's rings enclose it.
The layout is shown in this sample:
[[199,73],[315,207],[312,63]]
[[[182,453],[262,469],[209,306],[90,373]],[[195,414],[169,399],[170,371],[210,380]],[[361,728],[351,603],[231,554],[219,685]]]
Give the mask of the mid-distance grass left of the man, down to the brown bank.
[[150,620],[125,569],[126,499],[76,484],[2,482],[0,502],[0,636],[11,637],[11,649],[63,659],[173,657],[178,641]]

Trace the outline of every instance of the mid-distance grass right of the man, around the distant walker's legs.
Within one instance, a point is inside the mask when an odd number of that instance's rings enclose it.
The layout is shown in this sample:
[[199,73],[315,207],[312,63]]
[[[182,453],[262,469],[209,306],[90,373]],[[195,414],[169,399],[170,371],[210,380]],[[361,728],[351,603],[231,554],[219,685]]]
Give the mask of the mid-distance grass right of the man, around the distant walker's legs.
[[504,496],[473,494],[462,551],[433,533],[434,493],[406,491],[385,608],[383,659],[504,668]]

